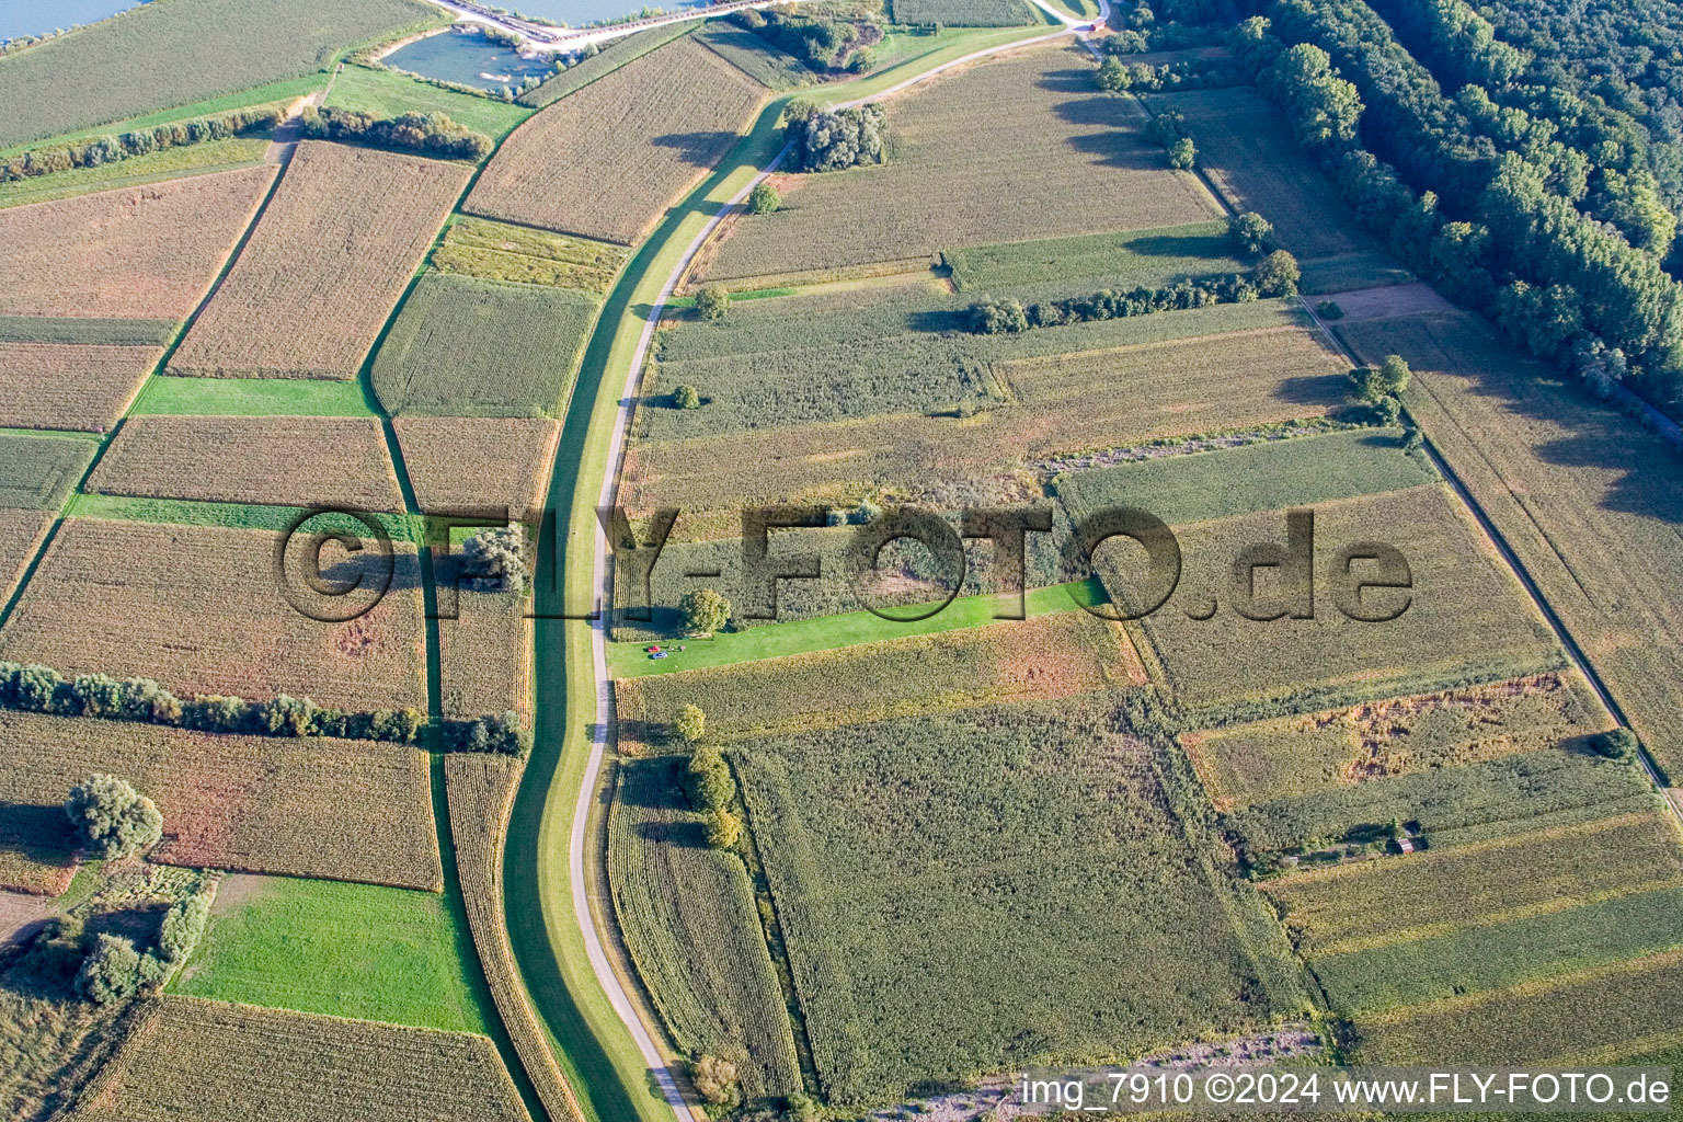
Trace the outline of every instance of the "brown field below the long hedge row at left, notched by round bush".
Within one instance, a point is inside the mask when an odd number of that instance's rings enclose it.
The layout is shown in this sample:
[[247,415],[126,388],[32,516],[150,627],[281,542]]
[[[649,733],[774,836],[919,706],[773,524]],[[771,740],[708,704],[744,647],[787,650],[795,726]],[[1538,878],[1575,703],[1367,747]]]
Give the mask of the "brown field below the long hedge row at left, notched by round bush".
[[59,893],[74,871],[61,804],[89,772],[123,775],[163,812],[168,865],[443,886],[427,759],[333,737],[192,732],[0,712],[0,885]]

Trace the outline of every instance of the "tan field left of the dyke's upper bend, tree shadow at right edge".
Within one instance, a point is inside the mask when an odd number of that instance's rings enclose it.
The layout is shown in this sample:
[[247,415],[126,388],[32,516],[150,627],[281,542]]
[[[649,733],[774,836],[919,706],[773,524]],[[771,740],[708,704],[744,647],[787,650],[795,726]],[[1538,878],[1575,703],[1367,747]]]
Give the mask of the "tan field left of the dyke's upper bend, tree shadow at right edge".
[[517,128],[466,210],[629,246],[737,143],[762,98],[683,37]]

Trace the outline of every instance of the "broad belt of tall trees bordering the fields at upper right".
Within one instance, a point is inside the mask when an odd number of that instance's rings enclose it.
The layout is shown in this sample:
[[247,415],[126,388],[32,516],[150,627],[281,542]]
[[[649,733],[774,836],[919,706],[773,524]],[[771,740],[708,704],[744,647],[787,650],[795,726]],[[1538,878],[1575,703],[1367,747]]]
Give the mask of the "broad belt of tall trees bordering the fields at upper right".
[[1276,0],[1279,22],[1245,20],[1234,52],[1363,224],[1412,269],[1540,358],[1602,389],[1624,372],[1643,375],[1651,395],[1670,400],[1683,375],[1683,288],[1654,254],[1577,209],[1584,177],[1570,148],[1498,153],[1463,126],[1382,20],[1348,15],[1358,7]]

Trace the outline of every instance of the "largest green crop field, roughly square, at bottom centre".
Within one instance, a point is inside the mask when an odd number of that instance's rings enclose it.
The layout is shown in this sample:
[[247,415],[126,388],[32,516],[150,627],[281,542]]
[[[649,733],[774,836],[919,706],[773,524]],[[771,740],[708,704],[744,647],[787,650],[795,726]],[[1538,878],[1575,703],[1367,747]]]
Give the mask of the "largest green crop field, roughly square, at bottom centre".
[[1284,940],[1247,918],[1261,903],[1109,728],[1062,703],[729,745],[830,1103],[1299,1008]]

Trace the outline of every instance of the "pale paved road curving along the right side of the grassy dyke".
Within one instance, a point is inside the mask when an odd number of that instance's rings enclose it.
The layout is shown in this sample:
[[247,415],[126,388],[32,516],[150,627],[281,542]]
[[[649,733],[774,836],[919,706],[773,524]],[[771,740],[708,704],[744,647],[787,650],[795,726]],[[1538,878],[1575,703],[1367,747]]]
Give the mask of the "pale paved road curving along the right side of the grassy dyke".
[[[1094,25],[1094,20],[1072,19],[1052,8],[1050,5],[1043,3],[1043,0],[1035,0],[1035,3],[1038,3],[1049,13],[1055,15],[1062,24],[1062,27],[1059,27],[1059,30],[1055,32],[1037,35],[1033,39],[1020,39],[996,47],[985,47],[981,50],[966,54],[959,59],[942,62],[941,66],[931,67],[929,71],[924,71],[921,74],[914,74],[912,77],[907,77],[905,81],[897,82],[895,86],[890,86],[867,98],[835,103],[833,108],[857,106],[865,101],[880,101],[911,86],[916,86],[917,82],[934,77],[936,74],[942,74],[944,71],[949,71],[953,67],[974,62],[976,59],[983,59],[986,56],[998,54],[1003,50],[1017,50],[1018,47],[1028,47],[1038,42],[1045,42],[1049,39],[1067,35],[1072,30],[1087,30]],[[1107,17],[1109,17],[1109,0],[1101,0],[1101,13],[1097,24],[1102,24]],[[626,370],[626,382],[619,395],[619,407],[614,412],[613,442],[608,451],[608,473],[603,478],[603,488],[597,496],[599,506],[611,506],[619,491],[619,469],[624,459],[626,429],[631,422],[631,409],[636,395],[636,380],[643,370],[650,343],[655,338],[655,330],[660,325],[660,318],[663,315],[666,301],[672,298],[672,293],[678,286],[678,279],[683,276],[685,269],[690,267],[690,262],[695,259],[695,254],[700,252],[707,239],[710,239],[714,232],[719,229],[719,224],[724,222],[724,219],[737,205],[741,205],[744,198],[747,198],[749,192],[752,192],[754,187],[757,187],[767,175],[778,170],[786,153],[788,148],[779,151],[746,187],[742,187],[742,190],[732,195],[727,205],[719,209],[719,214],[715,214],[707,220],[707,224],[700,229],[700,232],[690,241],[688,247],[683,251],[683,256],[663,281],[660,288],[660,296],[650,306],[646,320],[643,323],[643,333],[638,338],[636,350],[631,355],[629,368]],[[601,325],[597,330],[604,328],[608,328],[608,325]],[[569,851],[567,851],[569,878],[572,881],[572,912],[574,912],[574,920],[577,922],[579,930],[584,935],[586,954],[589,955],[591,969],[596,972],[596,981],[608,994],[608,999],[613,1004],[614,1013],[619,1014],[619,1019],[624,1021],[626,1028],[631,1031],[633,1040],[636,1040],[638,1050],[643,1053],[643,1061],[648,1063],[650,1072],[653,1072],[653,1077],[660,1085],[660,1090],[665,1095],[666,1103],[672,1107],[673,1114],[682,1122],[688,1122],[690,1109],[683,1102],[683,1097],[678,1093],[677,1082],[673,1080],[672,1072],[666,1068],[665,1060],[660,1055],[660,1050],[655,1046],[655,1040],[650,1035],[648,1026],[645,1026],[643,1019],[638,1016],[636,1008],[633,1006],[629,996],[621,986],[619,976],[614,972],[613,966],[608,961],[608,954],[603,949],[596,918],[591,915],[589,893],[584,875],[586,831],[589,824],[591,801],[596,799],[597,794],[596,787],[597,787],[597,779],[601,775],[603,754],[608,747],[608,727],[613,722],[614,715],[614,690],[613,690],[613,680],[608,675],[608,611],[606,611],[606,606],[611,606],[614,602],[613,565],[609,565],[608,562],[609,555],[608,538],[601,533],[599,527],[594,537],[596,542],[594,542],[594,558],[592,558],[594,565],[592,585],[596,589],[597,606],[604,607],[604,611],[601,611],[599,617],[591,622],[591,656],[596,673],[596,722],[591,732],[591,755],[586,764],[584,779],[579,784],[577,801],[572,809],[572,836],[569,839]],[[611,917],[604,917],[603,922],[609,922],[609,918]]]

